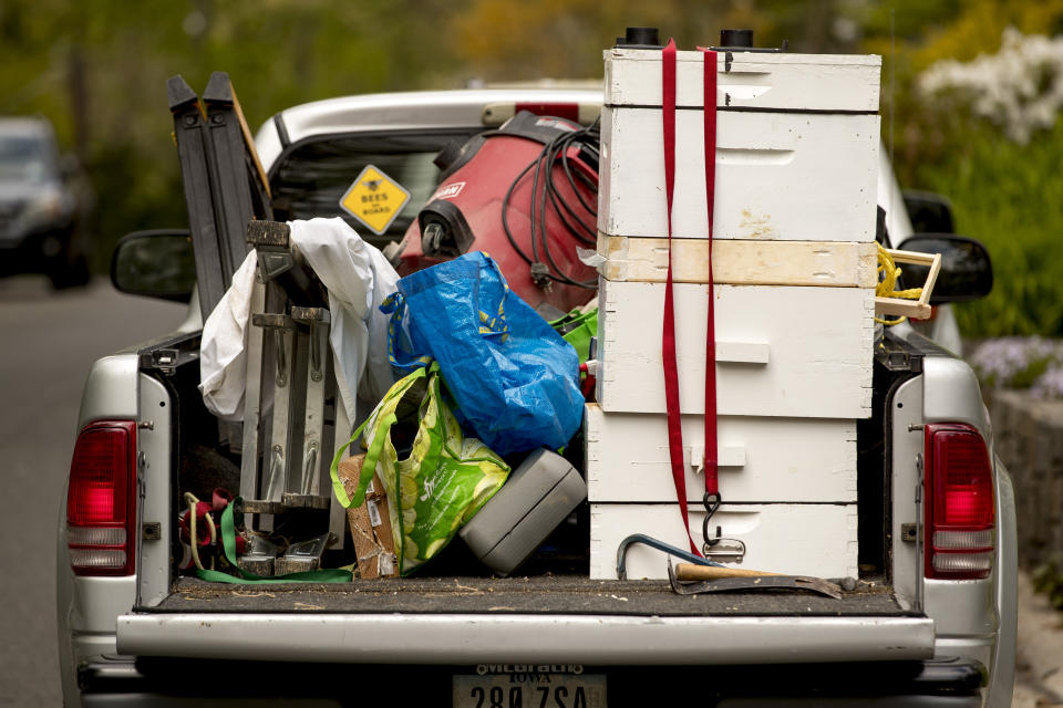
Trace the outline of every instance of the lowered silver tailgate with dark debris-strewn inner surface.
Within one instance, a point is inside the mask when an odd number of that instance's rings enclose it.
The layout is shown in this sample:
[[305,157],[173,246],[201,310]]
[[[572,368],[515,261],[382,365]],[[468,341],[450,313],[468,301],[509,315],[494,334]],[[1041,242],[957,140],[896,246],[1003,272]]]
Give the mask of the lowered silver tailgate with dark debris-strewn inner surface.
[[577,576],[218,585],[182,579],[117,620],[120,654],[349,664],[739,665],[933,657],[933,622],[876,589],[839,600],[678,595]]

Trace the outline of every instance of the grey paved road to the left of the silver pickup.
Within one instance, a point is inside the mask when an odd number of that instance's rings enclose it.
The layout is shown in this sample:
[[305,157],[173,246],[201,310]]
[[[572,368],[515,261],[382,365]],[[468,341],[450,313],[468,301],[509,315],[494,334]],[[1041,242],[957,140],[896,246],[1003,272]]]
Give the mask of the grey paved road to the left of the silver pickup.
[[92,362],[175,327],[184,308],[110,282],[55,293],[0,279],[0,706],[59,706],[54,544]]

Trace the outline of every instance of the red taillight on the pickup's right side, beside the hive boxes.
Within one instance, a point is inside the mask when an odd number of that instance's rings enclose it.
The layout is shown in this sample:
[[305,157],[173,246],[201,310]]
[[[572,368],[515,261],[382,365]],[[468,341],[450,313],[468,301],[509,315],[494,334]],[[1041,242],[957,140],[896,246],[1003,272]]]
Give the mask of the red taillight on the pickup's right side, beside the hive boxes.
[[927,577],[977,580],[993,564],[993,469],[985,440],[963,424],[926,427]]

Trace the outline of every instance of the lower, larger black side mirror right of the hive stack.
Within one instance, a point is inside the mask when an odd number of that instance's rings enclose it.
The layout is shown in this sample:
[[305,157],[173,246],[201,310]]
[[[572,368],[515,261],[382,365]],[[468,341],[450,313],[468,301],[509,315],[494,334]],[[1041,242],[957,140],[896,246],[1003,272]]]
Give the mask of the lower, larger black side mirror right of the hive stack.
[[[941,272],[930,304],[963,302],[984,298],[993,289],[993,266],[981,241],[954,233],[915,233],[900,244],[902,251],[941,253]],[[908,283],[923,282],[927,267],[906,263]]]

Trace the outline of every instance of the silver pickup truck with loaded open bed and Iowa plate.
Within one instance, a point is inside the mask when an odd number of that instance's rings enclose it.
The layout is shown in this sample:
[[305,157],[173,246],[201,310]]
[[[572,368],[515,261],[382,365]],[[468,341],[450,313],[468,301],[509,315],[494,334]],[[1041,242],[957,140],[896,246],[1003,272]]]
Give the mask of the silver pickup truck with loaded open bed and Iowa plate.
[[[453,138],[505,106],[600,102],[557,88],[337,98],[277,114],[255,142],[278,220],[340,216],[368,164],[401,180],[414,206],[383,246],[435,188],[432,157]],[[902,243],[911,226],[885,160],[879,184]],[[134,241],[153,238],[166,235]],[[945,254],[939,303],[983,294],[988,261],[972,266],[967,241],[916,238],[907,246]],[[549,570],[221,585],[177,569],[189,476],[239,462],[196,388],[203,319],[196,292],[175,284],[175,253],[115,280],[190,295],[187,321],[99,360],[85,384],[56,549],[65,705],[1011,705],[1012,485],[971,368],[910,326],[878,333],[874,415],[857,426],[861,583],[840,600],[689,597]],[[968,527],[939,528],[987,494]]]

